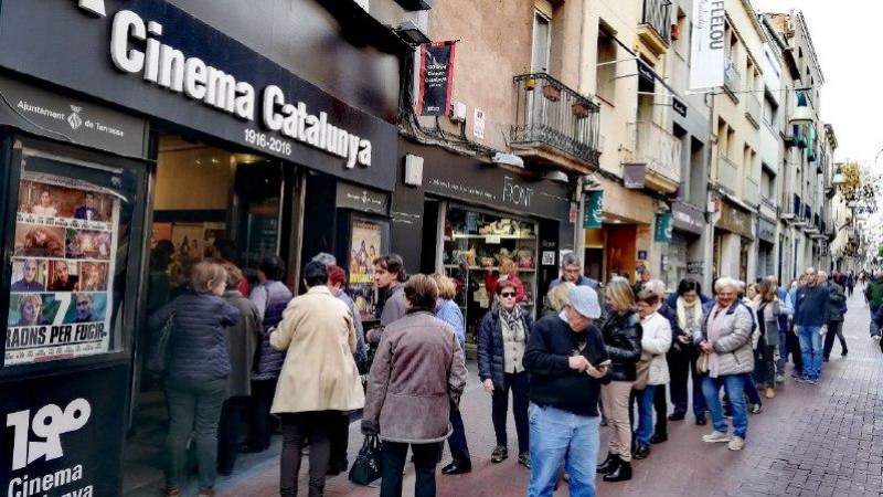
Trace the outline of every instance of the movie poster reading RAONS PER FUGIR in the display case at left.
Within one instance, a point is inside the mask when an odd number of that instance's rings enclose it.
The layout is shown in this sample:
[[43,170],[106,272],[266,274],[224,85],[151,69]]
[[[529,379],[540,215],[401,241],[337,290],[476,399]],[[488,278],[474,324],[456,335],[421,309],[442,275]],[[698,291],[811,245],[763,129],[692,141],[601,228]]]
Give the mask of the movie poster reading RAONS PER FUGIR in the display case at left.
[[85,182],[22,175],[4,364],[105,353],[119,199]]

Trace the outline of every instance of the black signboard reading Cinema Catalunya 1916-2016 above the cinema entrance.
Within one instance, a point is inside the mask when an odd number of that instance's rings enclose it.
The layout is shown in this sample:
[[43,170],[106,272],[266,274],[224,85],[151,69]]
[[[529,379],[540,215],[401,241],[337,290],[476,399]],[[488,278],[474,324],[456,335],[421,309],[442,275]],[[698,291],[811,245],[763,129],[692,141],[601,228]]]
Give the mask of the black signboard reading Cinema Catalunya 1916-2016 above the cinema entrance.
[[394,188],[394,125],[177,7],[103,3],[106,15],[74,1],[4,2],[0,65],[260,154]]

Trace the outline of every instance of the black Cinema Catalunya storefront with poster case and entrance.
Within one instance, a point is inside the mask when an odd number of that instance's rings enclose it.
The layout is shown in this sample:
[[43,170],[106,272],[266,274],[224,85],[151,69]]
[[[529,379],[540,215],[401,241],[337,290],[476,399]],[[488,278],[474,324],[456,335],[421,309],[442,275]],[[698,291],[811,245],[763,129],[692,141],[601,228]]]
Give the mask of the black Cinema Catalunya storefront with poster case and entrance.
[[317,252],[358,292],[357,235],[389,248],[407,46],[353,2],[244,3],[0,4],[10,495],[123,493],[157,242],[278,253],[295,292]]

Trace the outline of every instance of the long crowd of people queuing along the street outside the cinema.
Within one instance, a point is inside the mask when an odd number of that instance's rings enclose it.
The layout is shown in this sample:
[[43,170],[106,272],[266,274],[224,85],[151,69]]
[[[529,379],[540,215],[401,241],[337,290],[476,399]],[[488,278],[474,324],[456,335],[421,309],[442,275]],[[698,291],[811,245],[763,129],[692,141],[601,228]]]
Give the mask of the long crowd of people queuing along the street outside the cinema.
[[[402,495],[408,451],[415,495],[435,496],[446,440],[451,461],[442,474],[471,470],[459,409],[465,319],[449,277],[408,277],[401,256],[376,257],[372,274],[386,298],[380,326],[364,330],[330,254],[306,265],[307,292],[295,297],[275,255],[260,261],[251,292],[223,254],[185,267],[170,289],[162,275],[171,254],[162,246],[151,256],[148,308],[150,329],[172,329],[166,496],[180,495],[189,441],[196,444],[199,495],[210,497],[237,453],[270,446],[274,424],[283,433],[280,496],[297,495],[307,445],[309,496],[321,496],[326,478],[349,466],[349,424],[360,410],[363,434],[383,442],[381,496]],[[630,479],[632,462],[666,443],[668,423],[685,420],[690,408],[696,425],[711,421],[704,442],[741,451],[749,415],[776,396],[789,357],[795,381],[818,384],[834,338],[848,353],[843,315],[860,279],[851,273],[829,278],[807,268],[787,288],[773,276],[747,285],[719,277],[706,295],[692,278],[669,292],[649,271],[634,285],[615,276],[602,286],[581,266],[573,254],[562,256],[535,321],[520,304],[520,282],[497,278],[477,331],[496,435],[491,463],[509,457],[511,396],[529,497],[551,496],[561,478],[576,497],[595,495],[596,475]],[[883,278],[874,275],[864,292],[873,322],[883,322]],[[872,326],[877,340],[879,329]],[[610,436],[596,465],[600,426]]]

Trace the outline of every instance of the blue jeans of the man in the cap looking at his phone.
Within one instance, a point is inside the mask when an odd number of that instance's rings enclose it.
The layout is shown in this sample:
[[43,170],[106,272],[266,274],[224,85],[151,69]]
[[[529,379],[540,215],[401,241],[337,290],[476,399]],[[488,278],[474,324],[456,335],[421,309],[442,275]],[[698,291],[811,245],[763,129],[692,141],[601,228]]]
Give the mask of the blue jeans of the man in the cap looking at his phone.
[[532,468],[528,497],[552,497],[562,463],[571,475],[571,497],[595,497],[600,419],[535,404],[528,417]]

